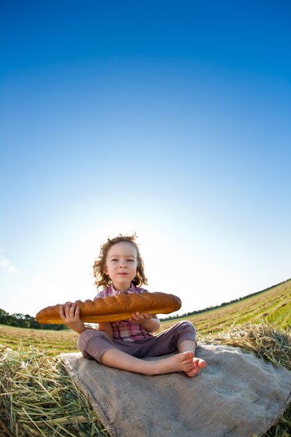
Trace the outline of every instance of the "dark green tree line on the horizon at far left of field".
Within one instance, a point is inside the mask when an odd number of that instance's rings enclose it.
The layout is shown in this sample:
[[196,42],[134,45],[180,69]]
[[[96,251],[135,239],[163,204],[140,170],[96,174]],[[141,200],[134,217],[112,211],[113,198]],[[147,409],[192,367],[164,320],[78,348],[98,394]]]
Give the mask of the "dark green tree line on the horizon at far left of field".
[[0,308],[0,325],[17,326],[33,329],[53,329],[61,330],[68,329],[66,325],[40,325],[35,317],[29,316],[29,314],[14,313],[9,314]]

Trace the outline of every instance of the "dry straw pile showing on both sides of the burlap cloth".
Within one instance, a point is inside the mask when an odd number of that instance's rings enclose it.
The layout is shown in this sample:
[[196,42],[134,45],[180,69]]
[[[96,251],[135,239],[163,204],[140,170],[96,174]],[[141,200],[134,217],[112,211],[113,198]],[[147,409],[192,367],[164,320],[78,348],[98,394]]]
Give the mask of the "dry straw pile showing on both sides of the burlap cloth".
[[[200,339],[252,351],[291,370],[290,331],[248,324]],[[107,436],[62,362],[45,350],[0,348],[0,381],[0,437]],[[290,434],[291,406],[265,437]]]

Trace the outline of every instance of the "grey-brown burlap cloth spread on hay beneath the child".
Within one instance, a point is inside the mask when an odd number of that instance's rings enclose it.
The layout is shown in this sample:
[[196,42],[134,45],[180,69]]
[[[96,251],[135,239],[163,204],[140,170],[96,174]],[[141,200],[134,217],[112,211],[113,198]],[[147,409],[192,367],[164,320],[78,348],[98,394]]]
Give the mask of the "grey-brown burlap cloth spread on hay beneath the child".
[[196,355],[208,366],[195,378],[111,369],[80,353],[61,360],[114,437],[261,436],[284,412],[287,369],[228,346],[203,344]]

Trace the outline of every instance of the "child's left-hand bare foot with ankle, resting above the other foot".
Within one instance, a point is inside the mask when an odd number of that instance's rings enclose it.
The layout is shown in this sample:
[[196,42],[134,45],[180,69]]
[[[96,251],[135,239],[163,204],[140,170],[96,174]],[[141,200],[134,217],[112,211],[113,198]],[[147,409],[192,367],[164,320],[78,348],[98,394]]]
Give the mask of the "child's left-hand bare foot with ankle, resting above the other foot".
[[157,360],[154,362],[154,374],[163,375],[164,373],[179,371],[187,372],[186,374],[191,373],[193,371],[193,359],[194,353],[189,351],[178,353],[163,360]]

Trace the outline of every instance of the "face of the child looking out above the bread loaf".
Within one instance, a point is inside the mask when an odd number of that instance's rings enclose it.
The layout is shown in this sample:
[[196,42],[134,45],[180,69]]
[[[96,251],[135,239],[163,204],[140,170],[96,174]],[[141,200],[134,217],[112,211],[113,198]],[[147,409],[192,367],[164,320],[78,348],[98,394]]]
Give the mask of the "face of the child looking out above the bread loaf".
[[130,242],[119,242],[110,247],[104,272],[110,277],[116,290],[130,288],[137,269],[137,251]]

